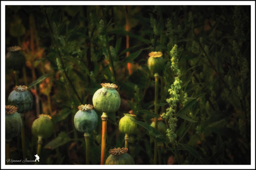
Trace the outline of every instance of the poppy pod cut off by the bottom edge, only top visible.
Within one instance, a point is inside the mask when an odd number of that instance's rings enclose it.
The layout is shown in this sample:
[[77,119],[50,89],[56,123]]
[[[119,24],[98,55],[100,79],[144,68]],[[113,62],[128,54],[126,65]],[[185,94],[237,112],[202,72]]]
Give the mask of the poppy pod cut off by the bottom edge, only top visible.
[[107,157],[105,164],[135,164],[134,158],[126,153],[127,148],[114,148],[110,149],[110,156]]

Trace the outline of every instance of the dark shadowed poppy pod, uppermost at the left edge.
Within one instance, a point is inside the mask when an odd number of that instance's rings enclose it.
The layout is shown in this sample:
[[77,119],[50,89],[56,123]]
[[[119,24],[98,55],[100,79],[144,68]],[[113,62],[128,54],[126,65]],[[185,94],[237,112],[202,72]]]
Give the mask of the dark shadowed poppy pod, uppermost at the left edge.
[[24,55],[21,53],[21,48],[14,46],[7,48],[8,53],[6,54],[6,68],[21,70],[26,64]]

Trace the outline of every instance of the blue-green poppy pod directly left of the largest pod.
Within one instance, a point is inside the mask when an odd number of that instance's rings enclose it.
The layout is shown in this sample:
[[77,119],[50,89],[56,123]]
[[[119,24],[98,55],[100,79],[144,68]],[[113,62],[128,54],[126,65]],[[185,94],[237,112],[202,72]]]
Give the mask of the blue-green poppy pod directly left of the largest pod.
[[98,123],[98,116],[92,105],[78,106],[79,111],[76,112],[74,123],[76,130],[83,133],[91,134],[95,130]]

